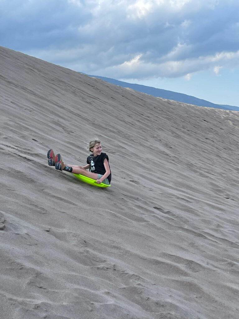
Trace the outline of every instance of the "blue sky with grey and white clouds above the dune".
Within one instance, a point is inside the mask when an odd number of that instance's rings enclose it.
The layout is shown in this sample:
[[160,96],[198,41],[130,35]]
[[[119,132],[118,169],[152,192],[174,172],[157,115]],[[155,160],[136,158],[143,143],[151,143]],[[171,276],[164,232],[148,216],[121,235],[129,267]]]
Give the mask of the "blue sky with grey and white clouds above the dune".
[[0,0],[0,45],[239,106],[238,0]]

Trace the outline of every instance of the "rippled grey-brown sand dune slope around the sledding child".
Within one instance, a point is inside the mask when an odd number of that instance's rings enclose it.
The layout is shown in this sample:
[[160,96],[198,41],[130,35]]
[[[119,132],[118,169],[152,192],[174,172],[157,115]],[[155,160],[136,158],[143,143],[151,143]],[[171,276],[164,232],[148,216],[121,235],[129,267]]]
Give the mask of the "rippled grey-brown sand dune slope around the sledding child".
[[[239,113],[0,47],[0,318],[239,318]],[[84,164],[108,189],[48,167]]]

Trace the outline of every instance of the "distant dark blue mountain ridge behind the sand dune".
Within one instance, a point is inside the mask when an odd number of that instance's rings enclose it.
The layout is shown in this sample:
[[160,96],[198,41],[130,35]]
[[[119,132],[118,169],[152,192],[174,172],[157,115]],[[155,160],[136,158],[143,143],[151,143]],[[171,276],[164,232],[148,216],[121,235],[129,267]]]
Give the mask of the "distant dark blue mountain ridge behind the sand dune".
[[160,98],[167,99],[167,100],[174,100],[174,101],[193,104],[193,105],[197,105],[197,106],[205,106],[208,108],[220,108],[220,109],[224,109],[224,110],[239,111],[239,107],[237,107],[237,106],[214,104],[214,103],[211,103],[209,101],[198,99],[194,96],[187,95],[184,93],[177,93],[177,92],[173,92],[173,91],[157,89],[155,87],[146,86],[146,85],[127,83],[127,82],[115,80],[112,78],[106,78],[106,77],[101,77],[101,76],[96,76],[96,75],[89,75],[89,76],[92,78],[102,79],[108,83],[112,83],[112,84],[119,85],[122,87],[128,87],[128,88],[133,89],[135,91],[146,93],[146,94],[153,95],[153,96],[160,97]]

